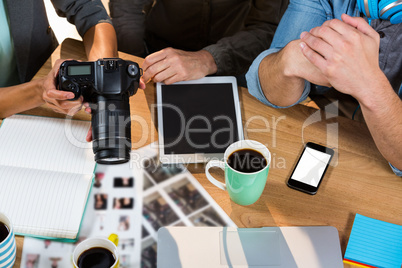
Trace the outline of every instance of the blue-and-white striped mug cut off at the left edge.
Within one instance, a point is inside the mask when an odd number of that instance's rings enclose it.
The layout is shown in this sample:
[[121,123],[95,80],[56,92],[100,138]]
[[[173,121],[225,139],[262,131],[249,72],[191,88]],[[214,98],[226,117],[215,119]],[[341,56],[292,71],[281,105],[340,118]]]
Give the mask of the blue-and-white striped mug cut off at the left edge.
[[11,268],[15,262],[17,245],[11,221],[0,212],[0,268]]

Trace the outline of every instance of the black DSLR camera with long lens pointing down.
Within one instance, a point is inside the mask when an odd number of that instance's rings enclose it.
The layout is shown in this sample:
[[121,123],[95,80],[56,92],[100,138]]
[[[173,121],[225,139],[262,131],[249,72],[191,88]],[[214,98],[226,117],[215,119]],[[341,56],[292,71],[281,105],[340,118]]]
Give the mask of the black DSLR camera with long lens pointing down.
[[92,110],[95,161],[120,164],[130,160],[131,118],[129,98],[138,89],[142,69],[120,58],[61,64],[58,89],[83,96]]

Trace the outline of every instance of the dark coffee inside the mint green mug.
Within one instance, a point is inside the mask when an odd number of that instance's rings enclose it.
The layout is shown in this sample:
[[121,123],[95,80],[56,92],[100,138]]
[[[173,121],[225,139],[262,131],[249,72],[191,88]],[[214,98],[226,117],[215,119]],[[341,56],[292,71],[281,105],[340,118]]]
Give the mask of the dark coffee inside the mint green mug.
[[234,151],[227,160],[228,165],[236,171],[253,173],[264,169],[267,160],[260,153],[253,149],[240,149]]

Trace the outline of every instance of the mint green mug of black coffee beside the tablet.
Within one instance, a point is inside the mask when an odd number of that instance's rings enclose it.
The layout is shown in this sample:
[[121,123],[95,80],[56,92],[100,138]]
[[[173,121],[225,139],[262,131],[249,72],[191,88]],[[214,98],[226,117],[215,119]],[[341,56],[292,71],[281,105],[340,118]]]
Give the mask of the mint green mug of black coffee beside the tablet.
[[[228,191],[236,204],[247,206],[255,203],[264,191],[271,164],[271,153],[258,141],[241,140],[230,145],[223,162],[211,160],[205,167],[208,180],[218,188]],[[225,183],[216,180],[209,169],[219,167],[225,171]]]

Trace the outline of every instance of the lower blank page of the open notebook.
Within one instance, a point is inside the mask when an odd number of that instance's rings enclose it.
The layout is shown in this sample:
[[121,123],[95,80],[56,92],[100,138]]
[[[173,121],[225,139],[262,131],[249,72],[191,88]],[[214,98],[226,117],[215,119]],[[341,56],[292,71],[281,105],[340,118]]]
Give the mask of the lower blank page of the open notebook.
[[74,239],[92,175],[0,166],[0,211],[15,233]]

